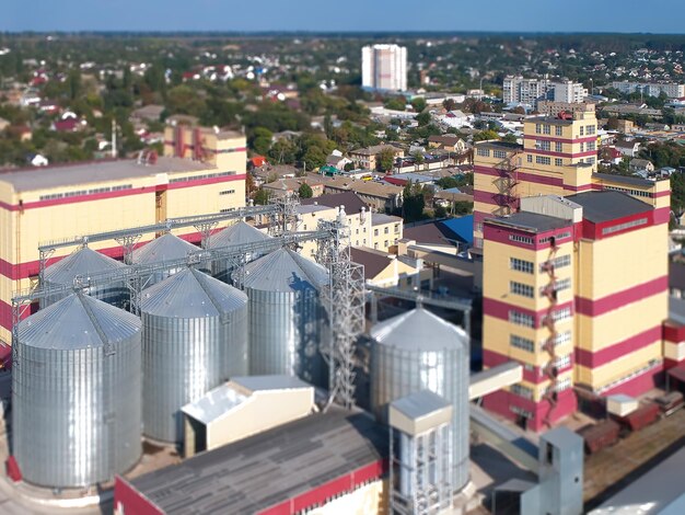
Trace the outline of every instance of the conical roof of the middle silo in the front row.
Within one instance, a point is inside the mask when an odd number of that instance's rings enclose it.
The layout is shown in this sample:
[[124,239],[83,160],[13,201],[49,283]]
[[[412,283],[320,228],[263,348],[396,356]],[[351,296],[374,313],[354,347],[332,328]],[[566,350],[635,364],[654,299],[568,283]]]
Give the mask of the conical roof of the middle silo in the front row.
[[186,268],[142,291],[146,313],[170,318],[217,317],[247,304],[241,290],[195,268]]

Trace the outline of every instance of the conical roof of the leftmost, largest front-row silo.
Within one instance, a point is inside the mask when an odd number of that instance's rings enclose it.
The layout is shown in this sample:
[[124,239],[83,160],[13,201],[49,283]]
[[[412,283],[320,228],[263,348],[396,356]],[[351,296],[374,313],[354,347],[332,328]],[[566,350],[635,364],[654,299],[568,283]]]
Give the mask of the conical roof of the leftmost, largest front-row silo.
[[140,331],[140,327],[135,314],[93,297],[72,294],[22,320],[19,339],[34,347],[85,348],[104,345],[100,333],[116,343]]

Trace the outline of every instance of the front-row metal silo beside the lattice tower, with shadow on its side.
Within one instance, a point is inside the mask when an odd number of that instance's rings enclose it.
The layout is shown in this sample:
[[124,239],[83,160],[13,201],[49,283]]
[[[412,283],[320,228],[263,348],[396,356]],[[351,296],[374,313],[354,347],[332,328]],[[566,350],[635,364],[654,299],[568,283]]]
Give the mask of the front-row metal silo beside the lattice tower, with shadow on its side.
[[249,298],[249,374],[293,375],[327,386],[318,295],[328,283],[326,268],[280,249],[247,264],[243,281]]

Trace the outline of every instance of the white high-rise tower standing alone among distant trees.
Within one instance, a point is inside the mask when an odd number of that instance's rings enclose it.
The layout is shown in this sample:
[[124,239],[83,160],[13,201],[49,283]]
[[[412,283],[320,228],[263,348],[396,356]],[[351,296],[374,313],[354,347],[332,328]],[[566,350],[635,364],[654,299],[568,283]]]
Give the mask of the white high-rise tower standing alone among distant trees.
[[372,90],[407,90],[407,48],[373,45],[361,49],[361,85]]

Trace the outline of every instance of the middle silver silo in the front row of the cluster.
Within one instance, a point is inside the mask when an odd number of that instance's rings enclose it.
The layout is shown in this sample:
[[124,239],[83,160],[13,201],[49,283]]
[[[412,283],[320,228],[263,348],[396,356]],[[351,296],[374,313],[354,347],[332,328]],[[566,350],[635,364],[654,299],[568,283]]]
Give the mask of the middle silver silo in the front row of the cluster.
[[186,268],[142,293],[143,433],[183,440],[181,408],[247,373],[247,297]]

